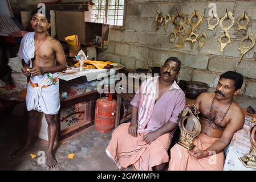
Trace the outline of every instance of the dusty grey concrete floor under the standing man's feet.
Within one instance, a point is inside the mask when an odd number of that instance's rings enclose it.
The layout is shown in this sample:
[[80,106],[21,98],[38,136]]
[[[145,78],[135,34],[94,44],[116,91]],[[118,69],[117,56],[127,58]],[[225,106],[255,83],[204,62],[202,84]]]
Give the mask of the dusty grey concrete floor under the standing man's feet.
[[[34,148],[16,158],[10,158],[11,152],[22,146],[26,140],[27,115],[15,117],[11,112],[1,114],[0,127],[0,170],[48,170],[46,165],[38,164],[39,151],[46,151],[48,142],[38,139]],[[103,134],[92,126],[72,138],[55,145],[54,152],[58,165],[50,170],[116,170],[112,160],[105,154],[105,148],[111,139],[111,133]],[[75,153],[74,159],[68,154]],[[128,170],[132,169],[131,167]]]

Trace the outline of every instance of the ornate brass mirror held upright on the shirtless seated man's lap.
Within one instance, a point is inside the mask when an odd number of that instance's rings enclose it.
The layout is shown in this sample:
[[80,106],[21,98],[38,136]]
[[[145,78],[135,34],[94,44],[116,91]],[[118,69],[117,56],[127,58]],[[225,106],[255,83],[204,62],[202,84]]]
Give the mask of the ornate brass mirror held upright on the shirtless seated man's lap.
[[195,147],[193,139],[201,132],[201,124],[197,115],[196,105],[193,105],[191,108],[185,107],[181,111],[178,115],[178,127],[181,131],[178,144],[189,151],[192,150]]

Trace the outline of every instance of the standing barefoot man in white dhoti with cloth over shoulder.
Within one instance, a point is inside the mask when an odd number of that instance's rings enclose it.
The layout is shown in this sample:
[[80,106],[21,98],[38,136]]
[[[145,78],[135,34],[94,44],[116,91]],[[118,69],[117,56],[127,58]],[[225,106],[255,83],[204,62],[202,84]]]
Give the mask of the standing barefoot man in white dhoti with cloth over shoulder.
[[[26,96],[26,105],[29,111],[27,140],[25,146],[14,151],[11,156],[14,157],[32,148],[36,118],[39,111],[42,111],[48,123],[46,164],[48,168],[54,168],[57,164],[52,154],[56,135],[55,114],[58,113],[60,107],[59,81],[56,72],[65,71],[67,63],[60,42],[47,33],[48,28],[50,28],[49,11],[46,11],[46,15],[43,15],[38,13],[38,10],[33,10],[31,14],[31,25],[34,32],[25,35],[18,53],[18,56],[22,59],[23,74],[27,77],[30,76]],[[28,56],[31,55],[31,49],[26,49],[30,46],[33,50],[32,56]],[[29,61],[32,61],[32,64]],[[58,62],[57,65],[55,65],[56,61]],[[32,65],[32,68],[29,68],[30,65]]]

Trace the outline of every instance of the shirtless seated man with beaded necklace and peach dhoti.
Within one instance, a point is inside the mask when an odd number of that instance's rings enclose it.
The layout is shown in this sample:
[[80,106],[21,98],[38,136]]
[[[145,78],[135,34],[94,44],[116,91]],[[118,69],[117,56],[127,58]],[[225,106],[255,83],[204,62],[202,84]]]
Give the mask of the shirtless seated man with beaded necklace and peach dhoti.
[[220,76],[215,93],[202,93],[197,97],[202,129],[193,140],[196,147],[188,151],[174,145],[170,150],[169,170],[223,169],[223,151],[245,122],[241,107],[233,101],[242,84],[243,76],[229,71]]

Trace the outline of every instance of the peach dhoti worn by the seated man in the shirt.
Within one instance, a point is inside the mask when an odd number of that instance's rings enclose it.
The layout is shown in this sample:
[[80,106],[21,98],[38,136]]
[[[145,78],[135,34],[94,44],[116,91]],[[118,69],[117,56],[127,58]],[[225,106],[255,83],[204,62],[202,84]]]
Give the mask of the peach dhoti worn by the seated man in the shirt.
[[143,141],[146,133],[139,133],[137,137],[128,134],[129,123],[123,123],[113,131],[106,153],[116,164],[118,169],[133,166],[137,170],[152,170],[152,167],[169,162],[168,148],[172,136],[167,133],[161,135],[151,144]]

